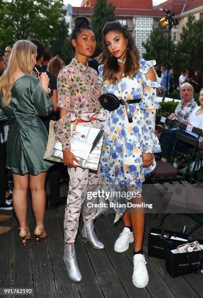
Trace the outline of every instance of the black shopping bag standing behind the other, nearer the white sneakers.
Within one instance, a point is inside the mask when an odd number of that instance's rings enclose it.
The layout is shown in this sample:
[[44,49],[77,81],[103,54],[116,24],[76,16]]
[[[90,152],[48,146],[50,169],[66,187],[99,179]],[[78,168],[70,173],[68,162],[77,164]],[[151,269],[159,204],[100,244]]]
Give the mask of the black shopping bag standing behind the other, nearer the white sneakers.
[[166,245],[180,241],[187,242],[188,236],[184,233],[151,228],[148,235],[148,256],[165,259]]

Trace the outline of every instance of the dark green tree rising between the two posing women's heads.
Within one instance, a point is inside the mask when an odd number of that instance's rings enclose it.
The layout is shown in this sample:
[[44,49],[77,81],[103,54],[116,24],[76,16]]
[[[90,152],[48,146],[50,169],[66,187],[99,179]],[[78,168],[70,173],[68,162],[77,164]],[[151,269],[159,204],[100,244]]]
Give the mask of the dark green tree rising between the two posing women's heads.
[[97,40],[95,56],[100,55],[102,52],[102,28],[104,24],[117,19],[114,10],[115,6],[112,2],[107,2],[106,0],[97,0],[94,5],[94,13],[91,23]]

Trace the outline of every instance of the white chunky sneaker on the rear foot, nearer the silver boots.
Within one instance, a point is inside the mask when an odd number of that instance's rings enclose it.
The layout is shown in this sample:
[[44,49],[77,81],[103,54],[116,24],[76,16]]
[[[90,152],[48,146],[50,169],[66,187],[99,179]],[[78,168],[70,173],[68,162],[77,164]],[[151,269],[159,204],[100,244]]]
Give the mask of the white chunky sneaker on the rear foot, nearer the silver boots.
[[134,242],[133,232],[129,228],[124,227],[122,233],[118,237],[114,245],[116,252],[124,252],[129,248],[129,243]]

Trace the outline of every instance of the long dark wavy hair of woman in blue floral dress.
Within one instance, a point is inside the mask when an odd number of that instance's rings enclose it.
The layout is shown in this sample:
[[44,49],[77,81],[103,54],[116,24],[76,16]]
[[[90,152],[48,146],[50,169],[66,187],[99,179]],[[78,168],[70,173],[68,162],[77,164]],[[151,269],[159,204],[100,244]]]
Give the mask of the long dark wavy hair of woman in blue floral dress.
[[103,55],[105,56],[105,62],[103,66],[103,82],[107,79],[110,84],[118,81],[116,74],[119,71],[119,65],[117,58],[112,56],[105,43],[105,36],[111,31],[119,32],[128,41],[128,48],[126,53],[126,61],[124,66],[124,76],[135,77],[140,69],[139,52],[135,46],[134,39],[130,32],[121,25],[119,21],[108,22],[104,25],[103,34]]

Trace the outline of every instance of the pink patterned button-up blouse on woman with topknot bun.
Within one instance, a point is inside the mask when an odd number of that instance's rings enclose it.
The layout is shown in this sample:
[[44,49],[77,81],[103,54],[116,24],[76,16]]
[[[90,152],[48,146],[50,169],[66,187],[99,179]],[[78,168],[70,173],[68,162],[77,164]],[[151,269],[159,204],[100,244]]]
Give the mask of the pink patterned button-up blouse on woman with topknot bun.
[[56,138],[62,143],[62,149],[70,149],[71,121],[78,118],[88,121],[93,116],[97,118],[96,114],[101,109],[98,74],[93,68],[73,58],[70,64],[60,70],[57,90],[57,107],[69,112],[55,124]]

